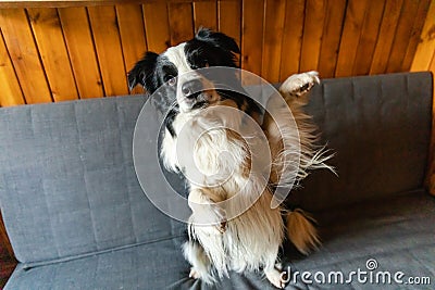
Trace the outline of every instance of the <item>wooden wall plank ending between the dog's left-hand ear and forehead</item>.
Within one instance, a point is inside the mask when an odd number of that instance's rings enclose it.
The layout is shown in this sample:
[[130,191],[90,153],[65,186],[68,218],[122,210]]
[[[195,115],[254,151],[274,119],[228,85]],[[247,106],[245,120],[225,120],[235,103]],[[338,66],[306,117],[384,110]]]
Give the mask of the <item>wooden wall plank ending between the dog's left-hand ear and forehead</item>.
[[142,10],[148,49],[161,53],[171,46],[166,3],[145,3]]

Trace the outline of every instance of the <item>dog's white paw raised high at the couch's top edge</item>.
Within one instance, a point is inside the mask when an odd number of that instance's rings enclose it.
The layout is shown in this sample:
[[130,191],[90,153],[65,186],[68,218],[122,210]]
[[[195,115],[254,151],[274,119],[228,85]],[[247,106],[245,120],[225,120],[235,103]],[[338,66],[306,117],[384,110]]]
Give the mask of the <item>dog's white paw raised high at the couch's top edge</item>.
[[308,72],[296,74],[288,77],[279,88],[283,93],[300,97],[311,90],[315,85],[320,84],[318,72]]

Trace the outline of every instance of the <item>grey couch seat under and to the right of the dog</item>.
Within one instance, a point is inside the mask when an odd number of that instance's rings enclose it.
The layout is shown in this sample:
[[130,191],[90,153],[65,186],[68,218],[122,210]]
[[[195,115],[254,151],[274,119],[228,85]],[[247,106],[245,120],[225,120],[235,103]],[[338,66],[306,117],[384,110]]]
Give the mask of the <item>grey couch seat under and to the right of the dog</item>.
[[[285,289],[374,289],[380,286],[382,289],[428,289],[431,286],[427,282],[435,282],[434,197],[421,191],[409,192],[388,199],[388,202],[380,200],[376,203],[361,203],[348,209],[323,212],[318,217],[323,240],[319,251],[302,257],[289,244],[285,245],[284,268],[290,273],[289,283]],[[377,267],[369,270],[372,268],[366,267],[368,261],[369,267],[373,263],[377,263]],[[360,281],[364,277],[370,279],[372,275],[372,282],[360,282],[358,276],[349,278],[350,273],[358,273],[358,269],[366,272],[365,276],[361,274]],[[303,272],[309,272],[311,277],[302,280]],[[316,274],[318,272],[325,275],[324,282],[322,274]],[[343,283],[337,272],[343,273]],[[387,277],[384,283],[385,272],[389,273],[385,275],[390,275],[390,283],[387,283]],[[403,273],[403,276],[398,276],[402,283],[394,280],[394,275],[398,272]],[[315,280],[314,275],[319,275]],[[338,282],[335,277],[338,277]],[[421,285],[409,283],[408,279],[411,277],[419,278]],[[425,281],[425,286],[424,277],[430,279]],[[231,273],[229,279],[224,279],[215,287],[207,287],[200,281],[185,278],[172,285],[171,289],[276,288],[257,274]]]

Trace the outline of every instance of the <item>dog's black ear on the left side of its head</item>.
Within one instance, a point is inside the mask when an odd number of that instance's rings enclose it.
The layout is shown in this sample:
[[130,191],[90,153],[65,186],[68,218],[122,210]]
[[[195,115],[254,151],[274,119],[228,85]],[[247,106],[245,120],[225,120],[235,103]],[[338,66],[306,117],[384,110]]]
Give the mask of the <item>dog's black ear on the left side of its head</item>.
[[149,51],[145,53],[144,58],[135,64],[132,71],[128,72],[129,90],[138,84],[140,84],[147,91],[152,90],[151,78],[156,72],[158,56],[159,54],[154,52]]

